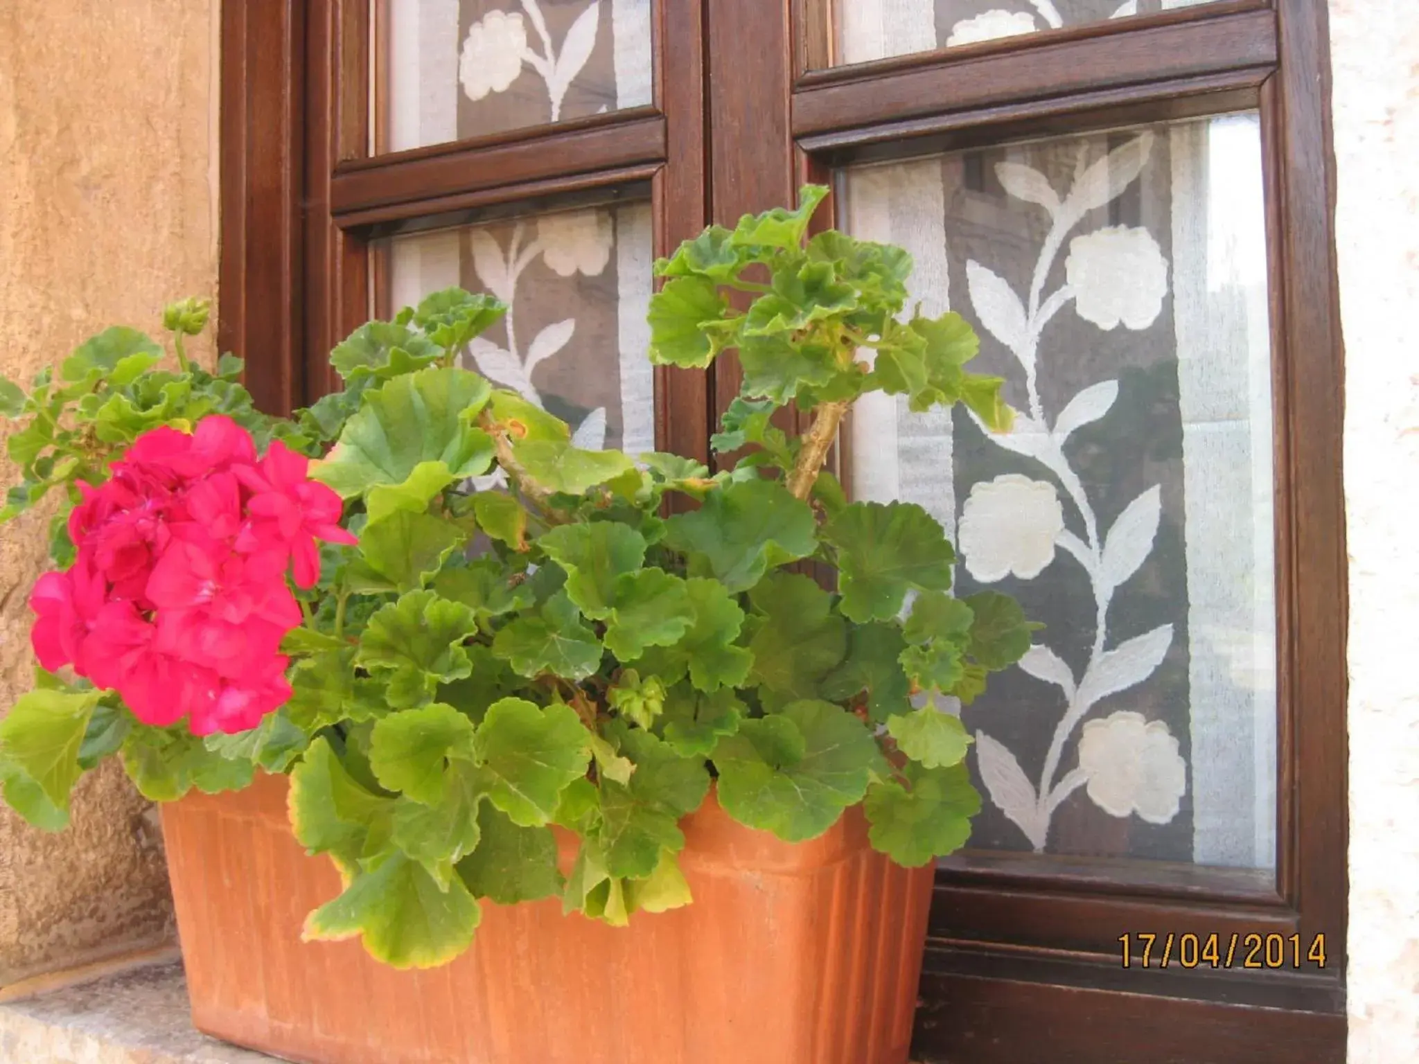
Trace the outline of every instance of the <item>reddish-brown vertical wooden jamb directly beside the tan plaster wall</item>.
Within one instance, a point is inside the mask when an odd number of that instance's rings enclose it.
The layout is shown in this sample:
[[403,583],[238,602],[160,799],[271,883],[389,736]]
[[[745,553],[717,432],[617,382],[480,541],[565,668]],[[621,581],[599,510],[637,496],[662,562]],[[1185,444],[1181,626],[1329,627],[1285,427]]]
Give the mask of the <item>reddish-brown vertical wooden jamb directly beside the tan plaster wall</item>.
[[247,359],[260,409],[304,400],[301,218],[304,4],[221,7],[217,343]]

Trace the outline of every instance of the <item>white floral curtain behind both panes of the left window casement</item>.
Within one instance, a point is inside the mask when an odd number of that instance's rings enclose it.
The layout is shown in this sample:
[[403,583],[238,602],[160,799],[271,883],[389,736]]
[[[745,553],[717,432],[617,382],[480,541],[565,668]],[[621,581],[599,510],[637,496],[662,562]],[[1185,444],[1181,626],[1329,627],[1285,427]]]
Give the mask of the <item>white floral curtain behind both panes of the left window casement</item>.
[[[389,149],[651,99],[650,0],[409,0],[389,31]],[[507,319],[467,362],[565,419],[578,445],[654,450],[646,359],[648,204],[539,214],[390,241],[394,308],[450,285]]]

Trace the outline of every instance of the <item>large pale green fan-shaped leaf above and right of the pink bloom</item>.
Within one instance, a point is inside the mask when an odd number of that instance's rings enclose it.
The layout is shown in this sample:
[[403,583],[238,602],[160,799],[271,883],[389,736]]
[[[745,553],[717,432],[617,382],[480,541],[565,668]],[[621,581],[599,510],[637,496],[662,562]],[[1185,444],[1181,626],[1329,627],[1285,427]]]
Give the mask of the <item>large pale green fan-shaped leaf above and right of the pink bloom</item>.
[[461,480],[492,464],[492,437],[473,427],[492,387],[464,369],[424,369],[365,393],[329,457],[311,475],[345,498],[403,484],[420,462],[441,461]]

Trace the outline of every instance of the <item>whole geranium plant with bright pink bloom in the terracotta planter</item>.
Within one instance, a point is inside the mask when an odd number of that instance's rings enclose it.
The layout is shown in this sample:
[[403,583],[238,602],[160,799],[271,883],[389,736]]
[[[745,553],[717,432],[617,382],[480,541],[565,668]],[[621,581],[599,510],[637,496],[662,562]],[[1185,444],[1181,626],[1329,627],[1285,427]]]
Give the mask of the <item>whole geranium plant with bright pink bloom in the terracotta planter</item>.
[[505,308],[458,289],[358,329],[332,353],[345,389],[292,420],[251,409],[238,363],[186,360],[194,305],[169,314],[177,372],[109,331],[58,382],[4,386],[26,423],[6,515],[65,504],[31,597],[40,681],[0,724],[7,800],[62,826],[112,753],[162,800],[289,772],[295,836],[345,881],[307,935],[396,966],[467,948],[480,898],[610,924],[690,902],[678,821],[711,785],[783,840],[863,804],[901,864],[958,848],[979,797],[938,699],[969,702],[1032,626],[951,597],[941,526],[849,502],[824,457],[866,392],[1010,411],[964,369],[958,315],[904,316],[907,253],[807,238],[824,194],[657,262],[651,359],[744,366],[714,437],[744,457],[714,474],[580,450],[463,369]]

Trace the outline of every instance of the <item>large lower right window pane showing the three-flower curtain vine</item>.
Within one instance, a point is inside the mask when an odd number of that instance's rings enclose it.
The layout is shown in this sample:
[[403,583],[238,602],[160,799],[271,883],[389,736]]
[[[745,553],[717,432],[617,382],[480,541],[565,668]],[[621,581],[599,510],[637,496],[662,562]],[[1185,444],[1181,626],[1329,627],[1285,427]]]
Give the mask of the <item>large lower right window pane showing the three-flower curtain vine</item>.
[[[1019,411],[868,397],[857,498],[925,506],[958,590],[1046,627],[961,712],[972,846],[1271,868],[1271,369],[1256,115],[849,170],[843,224],[915,257]],[[891,445],[894,444],[894,445]]]

